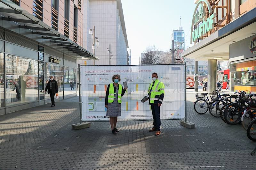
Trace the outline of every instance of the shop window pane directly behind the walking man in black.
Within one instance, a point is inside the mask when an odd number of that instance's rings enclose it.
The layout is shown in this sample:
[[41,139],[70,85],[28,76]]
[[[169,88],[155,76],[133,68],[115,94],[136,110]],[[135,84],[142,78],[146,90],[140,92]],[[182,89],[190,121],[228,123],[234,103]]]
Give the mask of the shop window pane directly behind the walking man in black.
[[[50,80],[51,76],[54,76],[54,80],[58,83],[58,94],[59,96],[63,96],[63,66],[59,66],[52,63],[44,63],[45,64],[45,74],[44,80]],[[46,85],[45,85],[46,86]],[[45,87],[44,87],[45,88]],[[46,92],[45,99],[50,99],[50,94]]]

